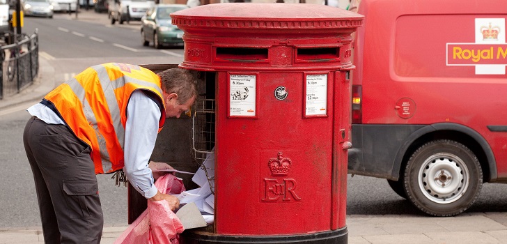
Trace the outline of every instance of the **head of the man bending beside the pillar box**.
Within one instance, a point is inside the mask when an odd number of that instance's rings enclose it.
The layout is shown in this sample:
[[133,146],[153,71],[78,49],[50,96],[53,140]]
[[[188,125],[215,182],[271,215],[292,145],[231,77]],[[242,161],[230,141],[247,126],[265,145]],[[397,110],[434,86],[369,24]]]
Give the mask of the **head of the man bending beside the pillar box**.
[[157,75],[162,80],[166,117],[179,118],[196,100],[196,76],[182,68],[170,68]]

